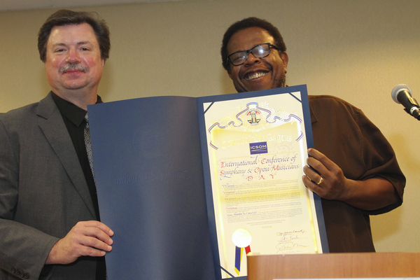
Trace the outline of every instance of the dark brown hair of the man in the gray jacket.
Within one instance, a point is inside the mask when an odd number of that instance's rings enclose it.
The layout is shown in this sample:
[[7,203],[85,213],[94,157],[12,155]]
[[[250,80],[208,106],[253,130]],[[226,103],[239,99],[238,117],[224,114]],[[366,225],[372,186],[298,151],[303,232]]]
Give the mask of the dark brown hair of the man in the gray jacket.
[[57,10],[48,17],[38,32],[38,52],[43,62],[47,59],[47,43],[51,30],[56,26],[81,25],[87,23],[94,31],[101,50],[101,58],[106,60],[109,57],[111,41],[109,39],[109,28],[105,20],[100,20],[95,12],[75,12],[73,10]]

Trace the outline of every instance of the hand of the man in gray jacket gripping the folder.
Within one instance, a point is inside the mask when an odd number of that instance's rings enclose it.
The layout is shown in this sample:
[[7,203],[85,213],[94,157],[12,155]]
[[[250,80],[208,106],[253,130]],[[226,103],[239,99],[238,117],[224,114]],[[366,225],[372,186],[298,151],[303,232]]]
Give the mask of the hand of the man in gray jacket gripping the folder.
[[67,265],[82,255],[102,257],[112,250],[113,231],[99,221],[78,222],[52,246],[45,265]]

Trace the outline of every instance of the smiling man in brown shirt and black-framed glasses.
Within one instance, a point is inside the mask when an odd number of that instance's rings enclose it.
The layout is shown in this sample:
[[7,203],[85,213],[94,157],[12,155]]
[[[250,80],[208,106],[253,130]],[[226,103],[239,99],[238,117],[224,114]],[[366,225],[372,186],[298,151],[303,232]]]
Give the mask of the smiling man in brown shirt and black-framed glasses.
[[[237,92],[286,86],[288,54],[271,23],[235,22],[225,32],[223,66]],[[314,148],[304,185],[321,197],[330,252],[374,251],[369,215],[402,204],[405,176],[391,145],[360,109],[337,97],[309,97]]]

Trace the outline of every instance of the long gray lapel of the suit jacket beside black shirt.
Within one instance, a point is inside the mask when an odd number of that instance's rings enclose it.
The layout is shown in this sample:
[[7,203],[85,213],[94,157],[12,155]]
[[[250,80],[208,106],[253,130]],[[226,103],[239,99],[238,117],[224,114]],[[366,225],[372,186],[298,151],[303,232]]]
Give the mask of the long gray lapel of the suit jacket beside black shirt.
[[80,167],[80,162],[74,151],[73,143],[69,132],[67,132],[66,125],[64,125],[61,113],[52,99],[51,92],[39,102],[36,113],[39,117],[38,125],[43,131],[45,138],[50,143],[52,150],[55,151],[57,158],[62,162],[74,188],[82,197],[92,216],[95,217],[92,197],[90,197],[83,170]]

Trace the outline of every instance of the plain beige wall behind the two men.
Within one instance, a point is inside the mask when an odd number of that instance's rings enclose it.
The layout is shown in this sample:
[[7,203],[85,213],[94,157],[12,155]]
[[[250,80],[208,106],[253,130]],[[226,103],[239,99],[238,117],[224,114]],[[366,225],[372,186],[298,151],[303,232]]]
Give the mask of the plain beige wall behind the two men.
[[[95,10],[111,29],[99,94],[107,101],[233,93],[221,66],[224,31],[248,16],[279,27],[288,85],[363,109],[393,145],[407,176],[402,207],[372,217],[377,251],[420,251],[420,123],[391,99],[406,83],[420,100],[420,1],[190,0],[73,8]],[[49,91],[37,33],[55,10],[0,13],[0,112]]]

